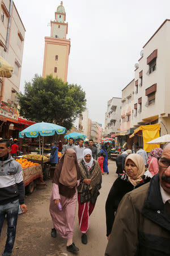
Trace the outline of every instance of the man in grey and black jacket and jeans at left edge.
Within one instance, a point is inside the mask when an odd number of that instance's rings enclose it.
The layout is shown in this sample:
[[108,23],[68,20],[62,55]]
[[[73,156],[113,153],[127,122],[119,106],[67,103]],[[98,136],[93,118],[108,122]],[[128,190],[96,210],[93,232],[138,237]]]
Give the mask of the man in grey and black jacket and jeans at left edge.
[[0,235],[7,218],[7,240],[2,255],[11,255],[14,247],[19,204],[23,213],[27,212],[24,204],[25,188],[22,166],[16,162],[10,152],[10,142],[0,141]]

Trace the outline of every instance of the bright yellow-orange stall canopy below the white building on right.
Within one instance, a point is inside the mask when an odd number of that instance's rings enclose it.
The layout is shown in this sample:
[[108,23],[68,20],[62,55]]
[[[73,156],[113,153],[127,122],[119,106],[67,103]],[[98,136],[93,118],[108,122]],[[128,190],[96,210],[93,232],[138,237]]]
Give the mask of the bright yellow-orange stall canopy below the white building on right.
[[138,131],[142,131],[143,136],[143,149],[147,152],[150,152],[153,148],[159,147],[159,144],[146,144],[149,141],[152,141],[152,139],[158,138],[159,131],[160,131],[160,124],[156,125],[142,125],[139,126],[137,129],[134,130],[134,133],[130,135],[129,138],[134,137],[134,135],[138,135]]

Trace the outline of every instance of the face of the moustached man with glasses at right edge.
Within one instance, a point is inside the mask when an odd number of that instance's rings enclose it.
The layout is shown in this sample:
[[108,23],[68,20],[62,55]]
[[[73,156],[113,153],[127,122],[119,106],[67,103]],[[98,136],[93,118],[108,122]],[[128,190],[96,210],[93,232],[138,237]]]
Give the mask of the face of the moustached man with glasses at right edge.
[[[162,159],[159,159],[159,164],[164,166],[166,164],[168,166],[170,164],[170,143],[164,148]],[[170,194],[170,166],[168,168],[163,168],[159,165],[159,179],[160,185]]]

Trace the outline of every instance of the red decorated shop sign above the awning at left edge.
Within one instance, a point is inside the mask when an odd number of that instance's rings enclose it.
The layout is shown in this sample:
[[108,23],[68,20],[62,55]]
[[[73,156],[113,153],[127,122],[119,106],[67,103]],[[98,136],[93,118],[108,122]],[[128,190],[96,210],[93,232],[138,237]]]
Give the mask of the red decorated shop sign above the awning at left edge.
[[19,117],[18,110],[15,108],[15,106],[4,101],[1,101],[0,114],[3,115],[3,117],[15,120],[18,120]]

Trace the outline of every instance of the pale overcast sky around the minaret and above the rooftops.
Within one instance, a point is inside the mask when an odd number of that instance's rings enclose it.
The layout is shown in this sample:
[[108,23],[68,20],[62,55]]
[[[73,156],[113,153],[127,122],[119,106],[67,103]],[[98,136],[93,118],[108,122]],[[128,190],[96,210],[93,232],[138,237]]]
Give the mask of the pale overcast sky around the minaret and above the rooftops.
[[[44,37],[50,36],[50,19],[60,1],[15,0],[26,29],[22,77],[31,81],[42,75]],[[169,0],[63,0],[67,39],[71,39],[67,81],[86,91],[92,121],[104,124],[107,101],[121,97],[121,90],[134,78],[143,45],[165,19],[170,18]]]

